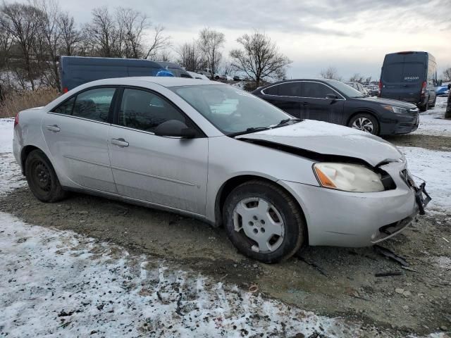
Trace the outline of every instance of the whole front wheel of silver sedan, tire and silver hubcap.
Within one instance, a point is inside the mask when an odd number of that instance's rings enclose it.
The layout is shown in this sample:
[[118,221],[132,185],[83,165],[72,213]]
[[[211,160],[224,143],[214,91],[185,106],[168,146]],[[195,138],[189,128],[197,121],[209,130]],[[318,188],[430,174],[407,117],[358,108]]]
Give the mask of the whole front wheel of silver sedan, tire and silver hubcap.
[[304,215],[295,199],[260,180],[245,182],[230,192],[223,224],[241,253],[264,263],[288,259],[307,243]]

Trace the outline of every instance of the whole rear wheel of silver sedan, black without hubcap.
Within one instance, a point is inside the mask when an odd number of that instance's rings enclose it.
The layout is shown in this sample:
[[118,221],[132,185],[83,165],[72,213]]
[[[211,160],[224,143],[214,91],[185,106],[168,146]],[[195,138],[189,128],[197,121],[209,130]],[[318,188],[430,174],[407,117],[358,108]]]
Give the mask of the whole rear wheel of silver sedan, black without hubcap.
[[28,187],[39,201],[56,202],[64,199],[63,190],[49,158],[40,150],[33,150],[25,160]]

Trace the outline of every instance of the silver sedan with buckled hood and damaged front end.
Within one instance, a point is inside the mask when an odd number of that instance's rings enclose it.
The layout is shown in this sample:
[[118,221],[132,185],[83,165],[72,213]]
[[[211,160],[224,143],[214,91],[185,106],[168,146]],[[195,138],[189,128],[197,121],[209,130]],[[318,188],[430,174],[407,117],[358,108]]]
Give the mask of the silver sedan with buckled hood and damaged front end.
[[14,129],[37,199],[79,191],[183,213],[268,263],[307,244],[381,242],[428,202],[392,144],[218,82],[89,82],[20,112]]

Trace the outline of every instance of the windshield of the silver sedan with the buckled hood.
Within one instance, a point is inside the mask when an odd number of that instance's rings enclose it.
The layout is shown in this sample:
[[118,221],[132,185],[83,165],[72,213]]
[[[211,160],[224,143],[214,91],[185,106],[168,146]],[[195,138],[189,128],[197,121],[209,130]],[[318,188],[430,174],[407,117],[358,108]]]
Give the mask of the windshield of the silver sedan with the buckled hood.
[[170,88],[226,135],[274,127],[292,118],[241,89],[225,85]]

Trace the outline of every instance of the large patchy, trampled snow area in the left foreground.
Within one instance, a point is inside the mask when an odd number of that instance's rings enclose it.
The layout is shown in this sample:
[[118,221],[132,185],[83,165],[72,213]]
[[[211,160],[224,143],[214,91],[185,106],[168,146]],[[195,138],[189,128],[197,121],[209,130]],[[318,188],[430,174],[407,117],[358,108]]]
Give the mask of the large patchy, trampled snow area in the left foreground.
[[0,336],[364,337],[150,256],[0,213]]

